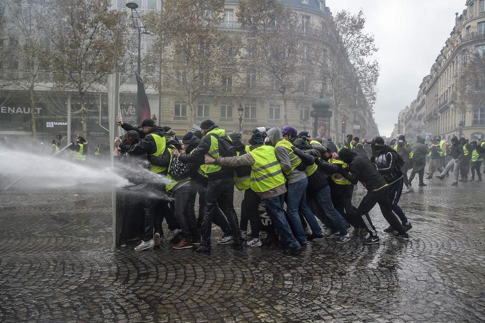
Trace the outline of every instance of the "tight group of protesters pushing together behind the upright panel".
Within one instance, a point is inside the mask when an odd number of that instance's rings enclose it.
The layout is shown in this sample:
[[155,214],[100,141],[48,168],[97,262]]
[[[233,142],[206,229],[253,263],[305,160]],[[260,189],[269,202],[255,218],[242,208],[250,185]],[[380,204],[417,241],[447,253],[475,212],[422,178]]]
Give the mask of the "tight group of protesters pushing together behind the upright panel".
[[[213,224],[223,233],[217,244],[236,250],[274,244],[299,254],[312,240],[344,244],[351,234],[376,244],[381,240],[369,216],[376,204],[389,223],[384,232],[409,239],[412,225],[398,204],[409,182],[403,171],[414,158],[401,157],[401,143],[390,147],[382,137],[367,142],[349,135],[335,145],[289,125],[255,128],[243,141],[240,132],[227,133],[210,119],[179,140],[152,119],[140,128],[116,122],[126,131],[113,152],[120,165],[166,178],[162,184],[137,178],[136,171],[129,176],[132,198],[124,202],[120,246],[141,238],[136,251],[153,249],[164,237],[174,249],[209,254]],[[354,205],[358,182],[366,194]],[[239,217],[234,187],[244,191]]]

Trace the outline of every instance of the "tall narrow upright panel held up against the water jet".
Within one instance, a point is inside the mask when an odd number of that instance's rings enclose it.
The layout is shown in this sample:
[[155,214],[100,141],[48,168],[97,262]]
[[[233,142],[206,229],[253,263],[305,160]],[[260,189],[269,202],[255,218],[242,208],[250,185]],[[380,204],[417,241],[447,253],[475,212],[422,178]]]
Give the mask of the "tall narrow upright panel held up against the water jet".
[[[108,76],[108,120],[110,129],[110,162],[114,167],[113,151],[115,150],[115,116],[120,105],[120,74],[114,73]],[[118,127],[118,126],[117,126]],[[116,210],[116,189],[111,193],[111,202],[113,208],[113,247],[116,248],[118,233],[117,233],[117,210]]]

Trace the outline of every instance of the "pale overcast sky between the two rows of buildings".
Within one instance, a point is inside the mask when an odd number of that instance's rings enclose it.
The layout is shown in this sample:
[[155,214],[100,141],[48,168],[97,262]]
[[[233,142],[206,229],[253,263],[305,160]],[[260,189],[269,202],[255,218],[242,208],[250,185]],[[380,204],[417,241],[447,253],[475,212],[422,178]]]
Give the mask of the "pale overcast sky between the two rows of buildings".
[[465,0],[327,0],[326,5],[332,12],[362,9],[367,18],[365,30],[375,35],[379,48],[374,117],[380,134],[389,136],[399,111],[416,99]]

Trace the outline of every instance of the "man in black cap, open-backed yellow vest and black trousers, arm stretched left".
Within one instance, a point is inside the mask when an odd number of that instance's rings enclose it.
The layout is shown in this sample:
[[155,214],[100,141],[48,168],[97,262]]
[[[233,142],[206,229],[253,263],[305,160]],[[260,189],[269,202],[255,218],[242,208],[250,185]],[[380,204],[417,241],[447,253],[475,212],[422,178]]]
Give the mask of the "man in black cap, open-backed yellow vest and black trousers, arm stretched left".
[[[199,146],[188,155],[180,155],[179,160],[183,163],[204,164],[205,155],[218,158],[219,144],[221,140],[230,141],[225,130],[220,129],[214,121],[206,119],[201,123],[204,136]],[[226,157],[226,156],[223,156]],[[234,170],[220,165],[203,165],[203,170],[207,177],[207,189],[205,194],[204,219],[202,221],[202,245],[195,249],[196,252],[209,254],[211,252],[211,228],[214,212],[219,206],[230,223],[234,247],[238,250],[243,249],[243,240],[239,231],[239,222],[236,211],[234,210]]]

